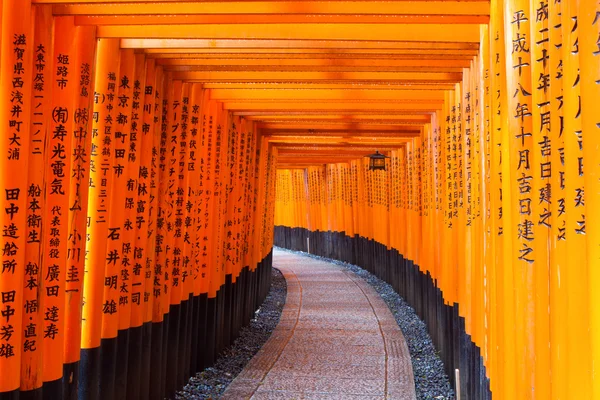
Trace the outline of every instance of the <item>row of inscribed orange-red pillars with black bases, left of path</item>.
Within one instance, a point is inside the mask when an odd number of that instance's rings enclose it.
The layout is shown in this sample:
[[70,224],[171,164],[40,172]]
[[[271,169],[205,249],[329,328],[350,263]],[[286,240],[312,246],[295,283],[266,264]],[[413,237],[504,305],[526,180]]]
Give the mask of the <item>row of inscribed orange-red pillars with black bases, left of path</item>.
[[118,39],[1,4],[0,398],[172,395],[266,295],[276,151]]

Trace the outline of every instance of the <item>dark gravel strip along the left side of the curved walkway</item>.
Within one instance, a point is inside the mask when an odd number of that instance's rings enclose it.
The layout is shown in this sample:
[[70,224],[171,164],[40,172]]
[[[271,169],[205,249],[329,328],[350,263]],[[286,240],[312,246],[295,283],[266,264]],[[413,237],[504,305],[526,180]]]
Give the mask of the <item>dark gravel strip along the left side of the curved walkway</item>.
[[218,399],[269,339],[279,323],[287,295],[287,285],[281,272],[273,268],[271,278],[271,291],[254,314],[254,319],[242,328],[239,337],[223,351],[213,367],[190,378],[176,399]]

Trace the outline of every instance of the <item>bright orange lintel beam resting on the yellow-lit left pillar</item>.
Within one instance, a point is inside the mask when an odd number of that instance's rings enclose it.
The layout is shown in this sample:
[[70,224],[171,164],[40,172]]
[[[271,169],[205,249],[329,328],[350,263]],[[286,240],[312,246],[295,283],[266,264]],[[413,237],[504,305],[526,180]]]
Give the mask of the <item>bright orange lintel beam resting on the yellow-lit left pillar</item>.
[[98,37],[479,42],[479,26],[456,24],[206,24],[99,26]]

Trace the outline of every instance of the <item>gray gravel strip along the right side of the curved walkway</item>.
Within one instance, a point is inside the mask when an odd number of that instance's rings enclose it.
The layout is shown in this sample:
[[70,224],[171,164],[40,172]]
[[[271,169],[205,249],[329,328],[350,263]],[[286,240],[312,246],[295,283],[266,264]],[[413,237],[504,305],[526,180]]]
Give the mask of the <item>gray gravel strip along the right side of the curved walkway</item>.
[[[290,252],[287,249],[278,249]],[[417,399],[454,399],[454,391],[450,387],[450,381],[444,371],[444,364],[431,341],[425,322],[417,316],[415,310],[394,291],[390,284],[356,265],[314,254],[298,253],[342,266],[367,281],[385,301],[406,338],[415,376]]]

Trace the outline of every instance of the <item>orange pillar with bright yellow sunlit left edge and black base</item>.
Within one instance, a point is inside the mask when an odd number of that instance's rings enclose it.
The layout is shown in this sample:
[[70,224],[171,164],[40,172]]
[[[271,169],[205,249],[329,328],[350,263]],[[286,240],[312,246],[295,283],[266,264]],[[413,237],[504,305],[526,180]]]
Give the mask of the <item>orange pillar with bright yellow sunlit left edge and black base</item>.
[[86,259],[83,281],[80,399],[100,396],[101,338],[104,302],[108,210],[112,196],[114,126],[116,114],[119,41],[100,39],[96,52],[90,183],[86,231]]

